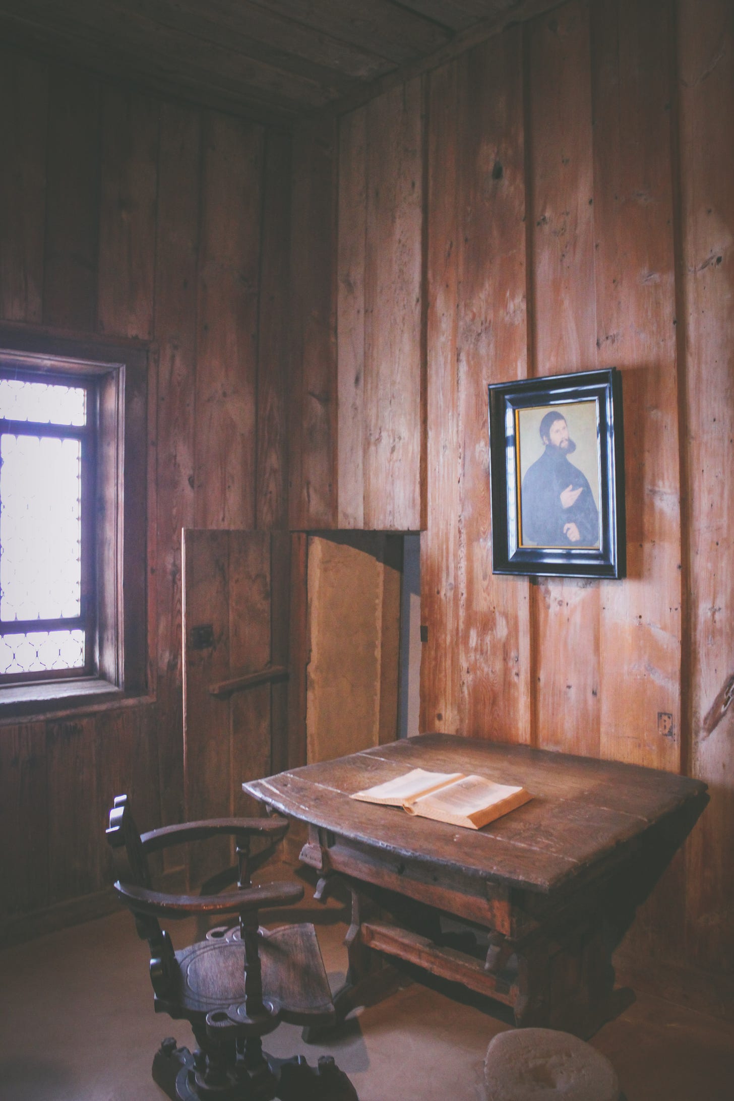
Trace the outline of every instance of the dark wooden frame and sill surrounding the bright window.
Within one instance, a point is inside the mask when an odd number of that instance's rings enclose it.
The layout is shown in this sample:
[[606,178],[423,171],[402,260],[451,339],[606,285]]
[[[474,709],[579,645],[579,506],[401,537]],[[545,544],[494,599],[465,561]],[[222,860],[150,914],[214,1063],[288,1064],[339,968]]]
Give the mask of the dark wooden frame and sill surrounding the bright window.
[[[0,368],[25,379],[90,381],[96,395],[91,471],[94,531],[86,545],[96,589],[86,609],[91,652],[85,673],[19,677],[0,685],[0,715],[72,706],[75,693],[143,695],[147,689],[146,517],[149,349],[0,328]],[[84,569],[84,567],[83,567]],[[83,611],[85,611],[83,609]]]

